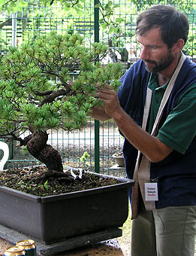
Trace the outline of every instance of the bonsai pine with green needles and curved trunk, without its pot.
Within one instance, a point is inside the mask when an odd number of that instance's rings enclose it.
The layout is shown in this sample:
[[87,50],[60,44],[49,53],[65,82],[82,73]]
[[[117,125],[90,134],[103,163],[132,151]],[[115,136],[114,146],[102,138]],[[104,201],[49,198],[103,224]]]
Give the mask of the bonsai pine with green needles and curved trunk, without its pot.
[[92,107],[101,104],[93,96],[96,84],[119,87],[122,66],[101,66],[105,54],[104,44],[89,48],[80,35],[56,32],[10,47],[0,61],[0,139],[19,142],[50,172],[63,172],[47,130],[80,130]]

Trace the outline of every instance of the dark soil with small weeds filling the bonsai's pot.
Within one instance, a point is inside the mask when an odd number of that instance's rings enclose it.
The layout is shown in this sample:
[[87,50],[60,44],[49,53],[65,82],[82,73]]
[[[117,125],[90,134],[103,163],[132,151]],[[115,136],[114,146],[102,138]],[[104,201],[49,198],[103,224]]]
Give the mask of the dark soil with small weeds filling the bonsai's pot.
[[[77,171],[74,173],[79,175]],[[39,197],[47,197],[120,183],[116,178],[104,178],[84,171],[82,178],[75,179],[70,171],[61,172],[60,177],[59,173],[57,175],[47,174],[48,171],[44,166],[8,169],[0,173],[0,186],[11,187]]]

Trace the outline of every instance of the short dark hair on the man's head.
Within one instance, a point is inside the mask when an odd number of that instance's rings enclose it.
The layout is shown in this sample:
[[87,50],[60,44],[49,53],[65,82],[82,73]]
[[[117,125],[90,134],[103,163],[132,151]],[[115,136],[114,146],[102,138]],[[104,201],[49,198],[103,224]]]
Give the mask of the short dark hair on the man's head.
[[137,35],[143,35],[149,29],[160,27],[161,38],[168,48],[182,38],[188,38],[188,19],[171,5],[154,5],[137,18]]

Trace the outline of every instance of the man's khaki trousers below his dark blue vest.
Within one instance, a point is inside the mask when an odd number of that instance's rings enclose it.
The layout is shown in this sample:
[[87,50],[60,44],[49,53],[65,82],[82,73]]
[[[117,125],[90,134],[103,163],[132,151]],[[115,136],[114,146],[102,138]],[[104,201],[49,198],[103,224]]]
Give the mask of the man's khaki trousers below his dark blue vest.
[[196,206],[147,212],[132,221],[131,256],[194,256]]

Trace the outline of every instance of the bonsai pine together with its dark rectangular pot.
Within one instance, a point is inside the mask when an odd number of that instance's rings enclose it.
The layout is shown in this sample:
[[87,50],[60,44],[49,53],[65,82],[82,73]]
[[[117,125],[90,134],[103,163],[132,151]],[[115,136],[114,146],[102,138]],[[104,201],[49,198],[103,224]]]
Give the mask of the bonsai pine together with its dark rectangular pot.
[[[1,224],[51,243],[121,227],[126,220],[128,187],[133,185],[129,180],[119,179],[109,190],[104,186],[103,190],[80,188],[73,193],[50,194],[57,190],[57,181],[63,187],[73,184],[80,187],[85,175],[89,175],[87,180],[91,178],[89,173],[82,173],[81,179],[75,170],[74,175],[63,171],[59,152],[47,144],[47,130],[81,129],[91,108],[101,104],[89,96],[95,93],[96,83],[101,87],[108,83],[113,89],[119,87],[122,66],[110,63],[103,67],[98,61],[106,53],[107,47],[100,43],[86,47],[80,35],[51,32],[20,48],[11,47],[2,57],[0,139],[14,140],[19,147],[26,147],[46,167],[8,170],[1,174]],[[73,72],[76,73],[74,83],[70,82]],[[21,180],[19,175],[23,177]],[[20,191],[9,188],[9,178]],[[103,179],[98,175],[99,181]],[[33,195],[34,188],[50,196]]]

